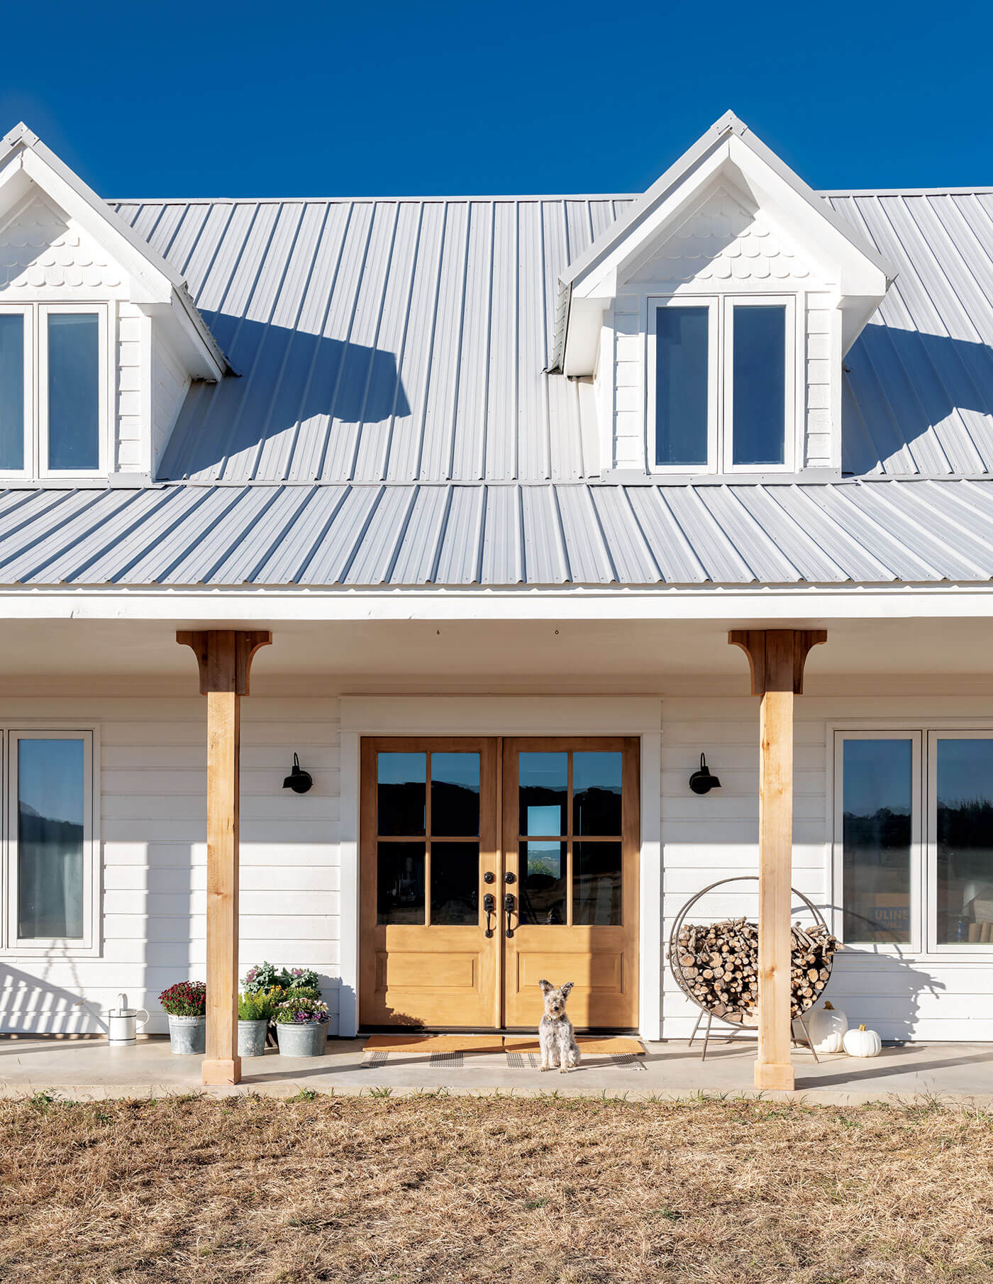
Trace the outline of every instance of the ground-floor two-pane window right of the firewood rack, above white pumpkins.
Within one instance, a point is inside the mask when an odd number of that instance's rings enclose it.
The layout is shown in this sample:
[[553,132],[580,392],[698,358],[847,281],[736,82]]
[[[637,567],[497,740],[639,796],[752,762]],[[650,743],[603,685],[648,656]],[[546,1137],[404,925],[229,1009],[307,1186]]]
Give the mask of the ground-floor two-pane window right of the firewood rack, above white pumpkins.
[[835,733],[847,944],[993,953],[993,729]]

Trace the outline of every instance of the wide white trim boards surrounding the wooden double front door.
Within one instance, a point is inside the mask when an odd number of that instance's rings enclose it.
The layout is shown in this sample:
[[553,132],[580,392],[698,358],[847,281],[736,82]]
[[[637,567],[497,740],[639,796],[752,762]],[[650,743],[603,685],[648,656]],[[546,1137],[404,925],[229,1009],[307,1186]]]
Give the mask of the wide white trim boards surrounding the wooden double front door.
[[[358,1030],[358,750],[362,736],[638,736],[638,1030],[662,1037],[662,700],[651,696],[343,696],[339,1032]],[[654,907],[654,912],[653,912]]]

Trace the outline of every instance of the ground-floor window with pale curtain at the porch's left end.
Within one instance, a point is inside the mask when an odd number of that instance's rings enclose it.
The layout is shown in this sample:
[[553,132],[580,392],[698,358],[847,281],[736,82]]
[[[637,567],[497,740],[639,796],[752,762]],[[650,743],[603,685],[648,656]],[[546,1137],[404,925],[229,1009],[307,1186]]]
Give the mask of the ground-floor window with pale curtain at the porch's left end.
[[17,954],[92,953],[96,860],[92,731],[3,736],[0,937]]

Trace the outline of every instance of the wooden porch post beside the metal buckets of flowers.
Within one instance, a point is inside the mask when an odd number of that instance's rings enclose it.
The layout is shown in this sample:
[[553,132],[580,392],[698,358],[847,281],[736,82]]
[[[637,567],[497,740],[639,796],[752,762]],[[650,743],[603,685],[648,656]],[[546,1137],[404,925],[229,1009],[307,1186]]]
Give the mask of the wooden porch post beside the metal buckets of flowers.
[[207,1055],[204,1084],[236,1084],[238,1055],[238,842],[242,696],[252,656],[272,641],[248,629],[181,632],[193,647],[207,696]]

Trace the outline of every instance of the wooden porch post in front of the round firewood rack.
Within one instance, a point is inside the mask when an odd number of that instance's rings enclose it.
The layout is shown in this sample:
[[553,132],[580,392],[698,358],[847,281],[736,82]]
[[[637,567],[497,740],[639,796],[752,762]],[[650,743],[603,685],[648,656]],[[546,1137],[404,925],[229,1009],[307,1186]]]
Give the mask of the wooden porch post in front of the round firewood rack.
[[791,1089],[790,886],[793,881],[793,697],[823,629],[739,629],[727,641],[751,666],[759,706],[758,1058],[755,1088]]

